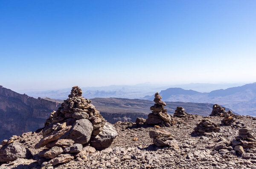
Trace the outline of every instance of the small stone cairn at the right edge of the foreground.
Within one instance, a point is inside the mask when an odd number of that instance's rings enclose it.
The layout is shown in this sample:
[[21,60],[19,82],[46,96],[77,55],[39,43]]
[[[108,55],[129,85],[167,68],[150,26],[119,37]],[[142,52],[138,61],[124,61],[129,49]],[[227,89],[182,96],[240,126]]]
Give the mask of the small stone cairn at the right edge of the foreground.
[[251,134],[247,128],[239,129],[239,136],[231,141],[233,149],[236,150],[238,155],[249,151],[249,149],[255,148],[256,138]]

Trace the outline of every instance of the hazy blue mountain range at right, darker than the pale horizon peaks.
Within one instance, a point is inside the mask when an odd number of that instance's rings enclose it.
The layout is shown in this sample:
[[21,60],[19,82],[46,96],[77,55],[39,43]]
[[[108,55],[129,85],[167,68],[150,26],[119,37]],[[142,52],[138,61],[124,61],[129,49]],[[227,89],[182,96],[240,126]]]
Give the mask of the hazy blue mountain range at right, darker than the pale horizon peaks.
[[[168,88],[162,90],[160,95],[163,97],[163,101],[221,104],[241,115],[256,116],[256,83],[230,87],[225,90],[213,90],[209,93],[182,88]],[[143,99],[152,100],[154,96],[145,96]]]

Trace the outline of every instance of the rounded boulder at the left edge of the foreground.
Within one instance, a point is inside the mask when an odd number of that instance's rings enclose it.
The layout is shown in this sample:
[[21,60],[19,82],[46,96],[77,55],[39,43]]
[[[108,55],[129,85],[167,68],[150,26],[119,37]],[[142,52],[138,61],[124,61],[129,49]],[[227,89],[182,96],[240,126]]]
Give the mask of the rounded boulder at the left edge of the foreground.
[[6,144],[0,148],[0,162],[14,161],[17,158],[26,158],[29,152],[19,142]]

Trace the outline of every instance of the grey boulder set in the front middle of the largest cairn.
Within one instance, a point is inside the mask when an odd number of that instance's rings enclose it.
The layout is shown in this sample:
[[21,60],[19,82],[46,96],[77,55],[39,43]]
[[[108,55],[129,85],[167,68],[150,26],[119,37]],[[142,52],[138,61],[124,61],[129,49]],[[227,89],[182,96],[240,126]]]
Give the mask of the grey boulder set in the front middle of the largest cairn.
[[63,135],[61,138],[71,139],[75,141],[75,143],[79,144],[86,144],[90,141],[92,132],[92,123],[88,119],[83,118],[80,120],[76,120],[70,131]]

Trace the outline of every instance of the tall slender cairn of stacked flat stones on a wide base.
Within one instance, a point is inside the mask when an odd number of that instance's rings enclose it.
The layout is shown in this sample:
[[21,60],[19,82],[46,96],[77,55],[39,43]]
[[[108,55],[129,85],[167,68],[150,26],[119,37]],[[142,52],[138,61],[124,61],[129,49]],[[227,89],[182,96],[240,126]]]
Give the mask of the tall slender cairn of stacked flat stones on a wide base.
[[159,126],[166,126],[170,127],[175,122],[172,117],[167,113],[167,110],[164,109],[164,106],[166,106],[166,103],[163,102],[161,99],[162,97],[157,92],[155,94],[154,106],[150,107],[150,110],[152,110],[152,113],[148,114],[148,118],[146,119],[145,124],[148,125],[159,125]]

